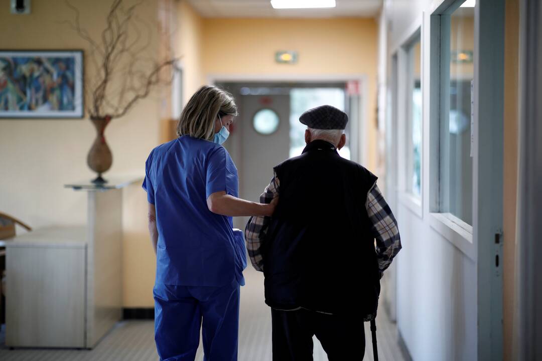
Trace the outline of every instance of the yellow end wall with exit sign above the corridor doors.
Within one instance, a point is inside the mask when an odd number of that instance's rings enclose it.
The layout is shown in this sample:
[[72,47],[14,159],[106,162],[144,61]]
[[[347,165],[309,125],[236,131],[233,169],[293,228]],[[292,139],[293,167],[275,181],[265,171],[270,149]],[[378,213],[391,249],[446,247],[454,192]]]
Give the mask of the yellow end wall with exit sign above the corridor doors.
[[[220,75],[364,74],[367,167],[376,168],[377,22],[372,18],[204,18],[203,73]],[[298,51],[278,64],[278,50]],[[363,130],[362,130],[363,131]]]

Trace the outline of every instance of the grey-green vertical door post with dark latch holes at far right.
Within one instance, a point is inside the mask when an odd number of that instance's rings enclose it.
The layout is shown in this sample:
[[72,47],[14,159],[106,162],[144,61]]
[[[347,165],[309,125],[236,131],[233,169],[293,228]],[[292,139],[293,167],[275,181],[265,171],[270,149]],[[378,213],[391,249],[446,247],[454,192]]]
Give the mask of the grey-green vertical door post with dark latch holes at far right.
[[474,8],[473,231],[478,253],[478,359],[495,361],[503,357],[504,10],[504,0],[477,0]]

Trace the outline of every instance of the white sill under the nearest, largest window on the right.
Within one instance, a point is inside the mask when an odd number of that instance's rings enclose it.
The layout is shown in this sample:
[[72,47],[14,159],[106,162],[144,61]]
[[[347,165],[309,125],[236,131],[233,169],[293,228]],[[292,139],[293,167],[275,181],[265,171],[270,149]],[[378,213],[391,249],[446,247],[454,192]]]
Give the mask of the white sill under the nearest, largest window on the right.
[[476,261],[472,226],[450,213],[429,213],[429,225],[468,258]]

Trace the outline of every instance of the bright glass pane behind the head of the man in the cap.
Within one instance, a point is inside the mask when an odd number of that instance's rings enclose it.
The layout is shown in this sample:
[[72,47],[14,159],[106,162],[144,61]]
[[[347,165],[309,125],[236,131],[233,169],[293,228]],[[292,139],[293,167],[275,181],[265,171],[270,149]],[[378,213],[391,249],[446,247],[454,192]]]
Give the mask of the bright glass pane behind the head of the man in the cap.
[[[307,126],[299,122],[299,117],[305,110],[324,104],[345,111],[344,89],[294,88],[290,91],[290,157],[300,155],[305,148]],[[344,133],[346,134],[346,145],[339,150],[339,154],[343,158],[350,159],[349,124],[346,124]]]

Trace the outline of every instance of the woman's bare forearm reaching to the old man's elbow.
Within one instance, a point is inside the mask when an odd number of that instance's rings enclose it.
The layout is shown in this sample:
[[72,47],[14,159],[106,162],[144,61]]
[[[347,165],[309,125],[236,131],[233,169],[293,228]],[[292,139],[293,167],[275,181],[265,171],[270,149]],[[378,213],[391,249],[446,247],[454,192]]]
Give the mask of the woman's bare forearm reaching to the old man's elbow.
[[261,204],[236,198],[226,192],[215,192],[207,198],[209,211],[230,217],[236,216],[270,216],[275,211],[279,198],[275,198],[270,204]]

